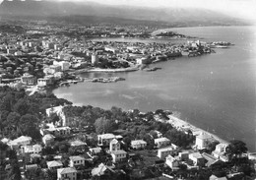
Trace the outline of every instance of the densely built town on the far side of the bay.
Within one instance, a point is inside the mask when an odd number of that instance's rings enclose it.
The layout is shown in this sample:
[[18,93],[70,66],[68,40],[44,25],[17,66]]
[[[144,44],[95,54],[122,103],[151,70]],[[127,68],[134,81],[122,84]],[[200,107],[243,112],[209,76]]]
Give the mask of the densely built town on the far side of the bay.
[[[133,27],[132,27],[133,28]],[[149,64],[173,58],[186,56],[199,56],[215,52],[212,48],[219,42],[203,42],[190,40],[186,43],[143,43],[143,42],[117,42],[94,41],[90,37],[102,37],[102,31],[108,32],[110,37],[124,35],[123,30],[133,34],[132,37],[141,37],[135,34],[147,33],[155,29],[132,29],[95,27],[90,35],[78,27],[61,28],[60,25],[44,25],[41,22],[32,25],[16,26],[4,24],[0,33],[0,84],[15,88],[25,88],[32,93],[36,90],[45,90],[48,87],[68,86],[84,82],[79,74],[86,72],[128,72],[149,68]],[[122,30],[120,30],[122,29]],[[72,31],[74,35],[67,34]],[[115,37],[114,36],[114,37]],[[176,32],[160,32],[155,37],[187,38]],[[146,38],[146,37],[144,37]],[[224,43],[224,42],[223,42]],[[223,44],[222,43],[222,44]],[[225,43],[225,47],[228,45]],[[224,45],[224,44],[223,44]],[[155,67],[157,68],[157,67]],[[115,78],[115,77],[113,77]],[[119,77],[117,77],[119,79]],[[91,82],[102,82],[91,80]],[[112,83],[111,79],[103,83]]]

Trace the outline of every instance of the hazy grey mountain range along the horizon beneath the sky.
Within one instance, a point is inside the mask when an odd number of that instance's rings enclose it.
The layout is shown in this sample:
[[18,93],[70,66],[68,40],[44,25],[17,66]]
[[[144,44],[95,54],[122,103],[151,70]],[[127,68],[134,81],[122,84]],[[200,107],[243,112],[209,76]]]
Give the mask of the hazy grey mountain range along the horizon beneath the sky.
[[191,26],[191,24],[195,24],[196,26],[243,24],[240,20],[202,9],[123,7],[102,5],[94,2],[59,2],[50,0],[4,0],[0,5],[0,16],[96,16],[160,21],[170,24],[182,22],[183,26]]

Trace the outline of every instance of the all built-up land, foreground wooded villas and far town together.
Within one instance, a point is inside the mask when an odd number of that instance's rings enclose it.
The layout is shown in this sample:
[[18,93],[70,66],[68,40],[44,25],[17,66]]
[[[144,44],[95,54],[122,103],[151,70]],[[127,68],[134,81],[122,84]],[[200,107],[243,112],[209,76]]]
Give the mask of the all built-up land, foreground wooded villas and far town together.
[[[149,64],[199,56],[229,42],[143,43],[92,37],[152,38],[145,27],[2,25],[0,33],[0,179],[253,179],[256,154],[169,110],[140,112],[73,106],[47,87],[84,82],[86,72],[148,70]],[[185,38],[161,32],[156,38]],[[155,38],[155,37],[153,37]],[[116,82],[123,79],[96,79]],[[29,90],[27,93],[25,90]]]

